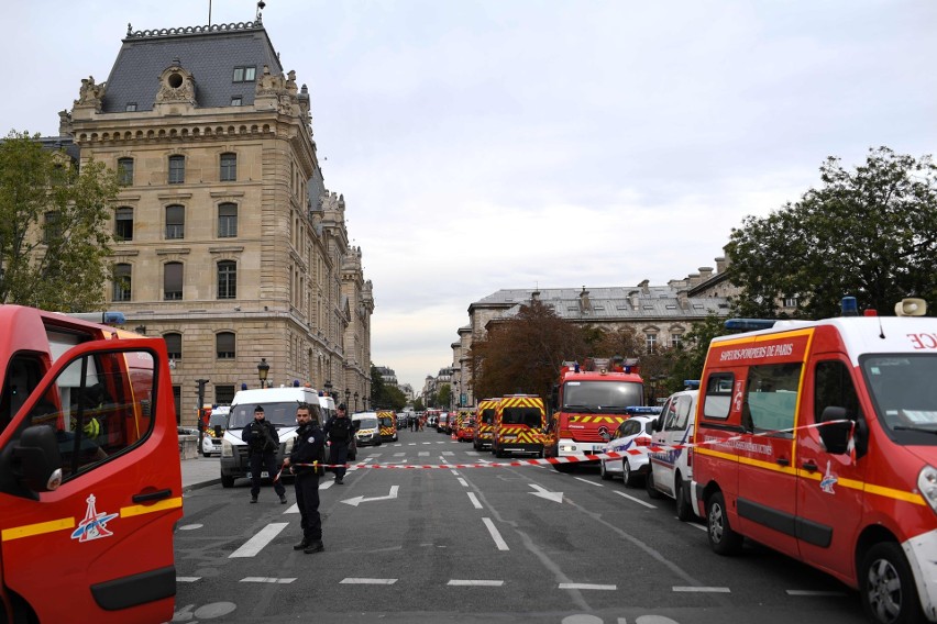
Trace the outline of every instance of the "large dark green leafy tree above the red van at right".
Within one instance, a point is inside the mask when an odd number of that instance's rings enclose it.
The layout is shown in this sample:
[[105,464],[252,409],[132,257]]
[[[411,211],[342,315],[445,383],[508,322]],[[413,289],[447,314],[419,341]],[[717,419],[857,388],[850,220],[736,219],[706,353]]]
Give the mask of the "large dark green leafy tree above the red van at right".
[[820,167],[823,186],[732,230],[726,252],[742,288],[735,311],[770,317],[776,298],[796,298],[797,316],[834,316],[845,296],[893,313],[904,297],[937,301],[937,167],[888,147],[849,171]]

